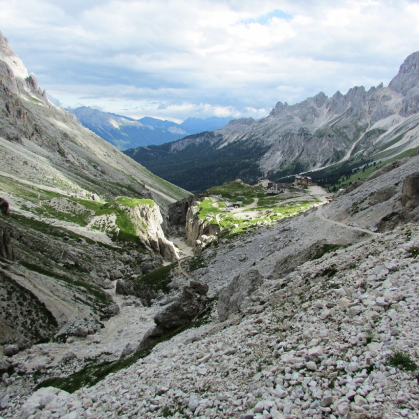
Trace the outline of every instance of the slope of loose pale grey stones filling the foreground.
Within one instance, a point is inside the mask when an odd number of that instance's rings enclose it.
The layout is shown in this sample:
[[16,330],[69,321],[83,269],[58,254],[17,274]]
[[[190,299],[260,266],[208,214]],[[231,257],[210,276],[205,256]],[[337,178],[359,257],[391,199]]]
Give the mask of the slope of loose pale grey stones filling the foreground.
[[3,417],[418,418],[416,372],[389,358],[419,362],[418,240],[409,225],[308,261],[263,283],[260,313],[186,330],[72,395],[2,399]]

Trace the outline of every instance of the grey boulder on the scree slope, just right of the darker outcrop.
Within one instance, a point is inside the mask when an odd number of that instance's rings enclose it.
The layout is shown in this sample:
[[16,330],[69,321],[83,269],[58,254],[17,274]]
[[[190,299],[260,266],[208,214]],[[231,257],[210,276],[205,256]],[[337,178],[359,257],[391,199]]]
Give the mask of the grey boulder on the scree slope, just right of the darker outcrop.
[[220,320],[224,321],[230,314],[242,311],[247,306],[247,297],[256,291],[262,283],[263,277],[258,270],[237,275],[220,292],[217,305]]

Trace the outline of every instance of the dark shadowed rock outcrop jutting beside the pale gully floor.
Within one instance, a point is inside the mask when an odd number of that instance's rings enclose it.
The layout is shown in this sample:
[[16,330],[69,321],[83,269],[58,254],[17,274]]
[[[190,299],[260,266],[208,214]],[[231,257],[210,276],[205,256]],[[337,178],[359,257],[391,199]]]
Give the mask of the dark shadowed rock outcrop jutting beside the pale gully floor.
[[182,294],[163,311],[154,316],[156,327],[149,330],[142,339],[140,348],[152,344],[156,339],[167,335],[177,328],[191,323],[205,310],[208,302],[208,286],[198,281],[190,281]]

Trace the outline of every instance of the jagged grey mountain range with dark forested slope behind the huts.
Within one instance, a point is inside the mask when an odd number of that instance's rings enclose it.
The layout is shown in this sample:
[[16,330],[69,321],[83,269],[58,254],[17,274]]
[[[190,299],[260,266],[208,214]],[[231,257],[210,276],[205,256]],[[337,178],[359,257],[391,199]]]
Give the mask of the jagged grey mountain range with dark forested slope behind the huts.
[[[237,178],[256,182],[315,172],[316,181],[360,165],[419,149],[419,52],[388,87],[353,87],[331,98],[323,92],[301,103],[278,102],[270,115],[236,119],[214,133],[128,150],[156,175],[188,191]],[[330,184],[330,182],[329,182]]]

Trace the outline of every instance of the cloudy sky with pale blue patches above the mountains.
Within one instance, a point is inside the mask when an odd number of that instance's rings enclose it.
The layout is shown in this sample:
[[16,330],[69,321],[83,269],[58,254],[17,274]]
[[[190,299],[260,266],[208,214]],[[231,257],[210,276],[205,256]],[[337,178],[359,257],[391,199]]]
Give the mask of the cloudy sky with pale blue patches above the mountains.
[[388,84],[419,50],[419,1],[0,0],[0,30],[65,106],[260,118]]

